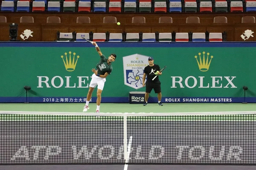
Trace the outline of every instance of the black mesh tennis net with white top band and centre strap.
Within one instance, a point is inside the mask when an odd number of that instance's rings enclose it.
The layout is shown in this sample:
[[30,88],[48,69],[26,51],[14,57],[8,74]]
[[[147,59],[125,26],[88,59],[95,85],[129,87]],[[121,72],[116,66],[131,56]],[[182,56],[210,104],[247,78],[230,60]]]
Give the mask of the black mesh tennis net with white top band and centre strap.
[[0,164],[256,164],[256,112],[0,111]]

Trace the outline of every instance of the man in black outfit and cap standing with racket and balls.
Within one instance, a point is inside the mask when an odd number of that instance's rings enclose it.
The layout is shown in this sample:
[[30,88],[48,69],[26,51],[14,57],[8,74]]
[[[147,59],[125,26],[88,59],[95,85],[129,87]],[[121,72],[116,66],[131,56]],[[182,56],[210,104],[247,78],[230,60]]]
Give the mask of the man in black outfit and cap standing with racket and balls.
[[[154,59],[152,57],[148,57],[148,66],[144,68],[144,74],[143,74],[143,87],[145,86],[145,79],[147,76],[146,81],[146,93],[145,93],[145,102],[143,106],[148,105],[148,97],[152,89],[154,89],[154,92],[157,93],[158,98],[158,105],[163,106],[161,102],[162,94],[161,94],[161,82],[159,81],[159,75],[162,75],[162,72],[160,71],[159,65],[154,64]],[[152,80],[156,75],[158,75],[154,80]]]

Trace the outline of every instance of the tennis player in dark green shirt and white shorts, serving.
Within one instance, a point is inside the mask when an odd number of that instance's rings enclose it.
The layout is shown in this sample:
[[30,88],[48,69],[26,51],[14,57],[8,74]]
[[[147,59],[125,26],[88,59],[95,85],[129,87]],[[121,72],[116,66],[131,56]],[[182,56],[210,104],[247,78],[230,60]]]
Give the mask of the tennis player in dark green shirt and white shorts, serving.
[[90,81],[89,91],[87,94],[86,104],[84,106],[83,112],[86,112],[89,109],[89,102],[90,102],[90,99],[92,98],[93,90],[98,85],[96,113],[100,113],[99,106],[100,106],[100,102],[101,102],[102,90],[103,90],[104,84],[106,82],[106,77],[109,74],[111,74],[111,72],[113,70],[112,62],[115,61],[116,54],[110,54],[110,56],[107,59],[105,57],[105,55],[103,55],[102,52],[100,51],[99,46],[96,44],[96,42],[91,42],[91,43],[96,47],[96,51],[99,53],[100,60],[99,60],[99,63],[96,65],[96,69],[92,68],[93,75],[92,75],[92,79]]

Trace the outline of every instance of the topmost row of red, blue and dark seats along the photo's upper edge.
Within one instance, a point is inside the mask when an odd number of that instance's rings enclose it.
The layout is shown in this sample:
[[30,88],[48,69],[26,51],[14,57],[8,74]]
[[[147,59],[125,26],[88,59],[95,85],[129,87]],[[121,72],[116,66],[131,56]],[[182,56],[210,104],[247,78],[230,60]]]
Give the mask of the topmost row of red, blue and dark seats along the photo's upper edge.
[[256,11],[255,1],[9,1],[4,0],[1,11],[55,12],[250,12]]

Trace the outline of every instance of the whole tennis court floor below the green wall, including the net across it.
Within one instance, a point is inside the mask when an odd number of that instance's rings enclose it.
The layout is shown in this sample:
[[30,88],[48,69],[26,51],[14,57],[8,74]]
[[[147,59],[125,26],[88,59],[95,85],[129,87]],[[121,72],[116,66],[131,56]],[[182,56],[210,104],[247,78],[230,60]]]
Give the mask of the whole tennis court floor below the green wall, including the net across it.
[[95,103],[0,104],[0,162],[12,164],[0,169],[250,169],[255,106],[102,103],[95,115]]

